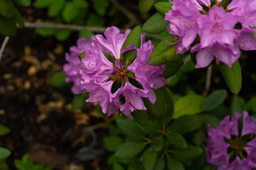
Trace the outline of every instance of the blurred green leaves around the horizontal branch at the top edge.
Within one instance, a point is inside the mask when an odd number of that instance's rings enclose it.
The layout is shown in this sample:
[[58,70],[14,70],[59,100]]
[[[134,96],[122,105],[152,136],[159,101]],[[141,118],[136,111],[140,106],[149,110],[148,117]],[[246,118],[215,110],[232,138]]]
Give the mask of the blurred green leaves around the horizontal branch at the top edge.
[[[88,3],[87,0],[36,0],[34,6],[48,8],[49,17],[52,17],[54,20],[46,20],[46,23],[103,26],[104,20],[102,20],[102,17],[106,14],[109,3],[109,0],[93,0],[92,4]],[[93,6],[95,12],[88,14],[90,6]],[[38,28],[35,30],[35,33],[42,36],[54,34],[58,40],[64,41],[70,36],[72,31]],[[82,29],[79,33],[80,38],[85,37],[88,40],[93,35],[93,32],[88,29]]]

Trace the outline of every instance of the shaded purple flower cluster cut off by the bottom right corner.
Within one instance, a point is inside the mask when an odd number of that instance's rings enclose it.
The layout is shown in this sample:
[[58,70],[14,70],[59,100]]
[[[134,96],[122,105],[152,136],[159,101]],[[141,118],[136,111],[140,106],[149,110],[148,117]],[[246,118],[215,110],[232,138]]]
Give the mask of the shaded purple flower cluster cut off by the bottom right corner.
[[[256,168],[256,119],[244,111],[243,126],[239,135],[240,117],[240,113],[234,113],[230,121],[230,116],[226,116],[216,129],[208,125],[209,137],[205,147],[207,162],[216,165],[217,170]],[[249,136],[254,138],[250,140]],[[244,139],[249,139],[250,142],[244,143]]]

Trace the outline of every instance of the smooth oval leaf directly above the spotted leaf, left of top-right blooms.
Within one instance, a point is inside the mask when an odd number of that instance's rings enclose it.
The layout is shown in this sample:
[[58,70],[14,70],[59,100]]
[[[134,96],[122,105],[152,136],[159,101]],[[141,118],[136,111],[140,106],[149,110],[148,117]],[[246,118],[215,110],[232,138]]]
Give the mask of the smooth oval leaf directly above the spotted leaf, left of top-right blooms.
[[164,20],[164,17],[157,12],[145,22],[142,30],[148,34],[160,34],[168,25],[169,21]]

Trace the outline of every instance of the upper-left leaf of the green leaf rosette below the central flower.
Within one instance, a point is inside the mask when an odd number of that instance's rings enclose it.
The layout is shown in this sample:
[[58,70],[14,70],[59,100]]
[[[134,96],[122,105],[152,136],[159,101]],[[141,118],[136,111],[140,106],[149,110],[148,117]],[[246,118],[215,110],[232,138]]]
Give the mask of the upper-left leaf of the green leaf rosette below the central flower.
[[116,120],[116,125],[127,135],[136,140],[143,140],[145,133],[130,119]]

